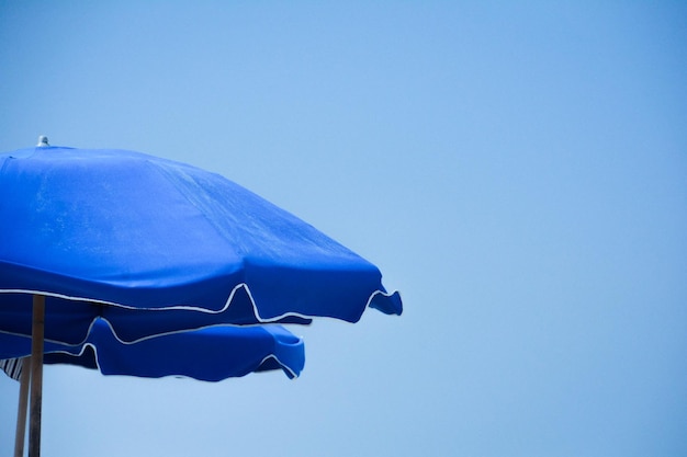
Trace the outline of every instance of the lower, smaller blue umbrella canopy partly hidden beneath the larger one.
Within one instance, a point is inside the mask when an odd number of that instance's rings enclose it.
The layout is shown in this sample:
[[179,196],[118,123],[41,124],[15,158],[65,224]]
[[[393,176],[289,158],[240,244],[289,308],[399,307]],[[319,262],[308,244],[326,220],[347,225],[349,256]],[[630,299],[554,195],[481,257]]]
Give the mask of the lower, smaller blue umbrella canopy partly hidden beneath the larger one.
[[[0,359],[29,355],[31,336],[0,333]],[[95,319],[80,344],[45,341],[44,363],[147,378],[183,376],[219,381],[272,369],[294,378],[303,370],[305,351],[300,338],[275,324],[212,327],[124,343],[106,321]]]

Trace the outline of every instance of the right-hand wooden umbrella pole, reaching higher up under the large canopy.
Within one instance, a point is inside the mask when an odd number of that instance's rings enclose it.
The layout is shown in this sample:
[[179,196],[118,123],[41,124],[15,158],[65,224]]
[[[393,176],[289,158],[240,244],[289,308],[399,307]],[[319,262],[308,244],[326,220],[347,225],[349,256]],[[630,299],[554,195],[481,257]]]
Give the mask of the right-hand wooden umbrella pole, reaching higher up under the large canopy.
[[42,295],[34,295],[33,329],[31,336],[31,414],[29,419],[29,457],[41,456],[44,327],[45,297]]

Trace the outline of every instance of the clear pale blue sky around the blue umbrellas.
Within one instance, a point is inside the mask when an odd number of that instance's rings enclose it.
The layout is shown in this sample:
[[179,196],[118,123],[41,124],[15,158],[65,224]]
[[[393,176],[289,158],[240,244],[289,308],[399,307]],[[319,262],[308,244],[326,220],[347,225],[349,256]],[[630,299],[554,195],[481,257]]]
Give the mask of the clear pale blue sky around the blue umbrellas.
[[687,4],[517,3],[0,0],[0,150],[218,172],[405,304],[295,381],[47,367],[43,455],[687,455]]

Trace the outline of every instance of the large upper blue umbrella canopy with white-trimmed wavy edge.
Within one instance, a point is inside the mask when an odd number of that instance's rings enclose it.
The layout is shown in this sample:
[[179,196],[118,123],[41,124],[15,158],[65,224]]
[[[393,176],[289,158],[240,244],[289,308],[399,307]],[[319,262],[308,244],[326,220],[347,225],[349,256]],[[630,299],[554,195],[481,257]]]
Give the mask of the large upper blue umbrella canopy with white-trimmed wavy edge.
[[[212,324],[399,315],[376,266],[236,183],[124,150],[0,153],[0,331],[122,341]],[[146,311],[146,312],[140,312]],[[147,312],[155,311],[155,312]]]

